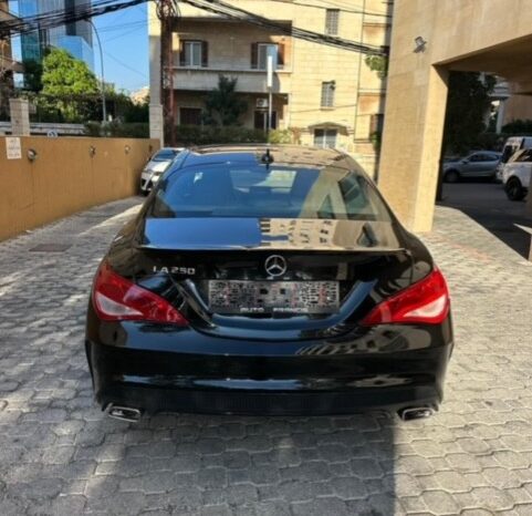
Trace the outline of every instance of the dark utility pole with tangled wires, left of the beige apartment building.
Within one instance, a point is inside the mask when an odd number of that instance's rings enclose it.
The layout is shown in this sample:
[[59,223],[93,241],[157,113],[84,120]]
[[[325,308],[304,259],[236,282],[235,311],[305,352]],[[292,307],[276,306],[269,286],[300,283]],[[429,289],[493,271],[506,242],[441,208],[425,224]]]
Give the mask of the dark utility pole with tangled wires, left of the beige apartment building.
[[165,145],[175,146],[176,124],[174,120],[174,49],[173,32],[179,9],[177,0],[156,0],[157,18],[160,20],[160,103]]

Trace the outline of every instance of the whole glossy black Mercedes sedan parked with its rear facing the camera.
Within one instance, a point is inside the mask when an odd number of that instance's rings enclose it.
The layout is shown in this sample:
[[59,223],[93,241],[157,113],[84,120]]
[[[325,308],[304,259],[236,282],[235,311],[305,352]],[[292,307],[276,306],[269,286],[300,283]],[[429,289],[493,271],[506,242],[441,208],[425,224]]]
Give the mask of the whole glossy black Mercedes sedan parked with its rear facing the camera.
[[424,417],[452,351],[449,292],[350,156],[182,152],[96,272],[95,396],[115,417]]

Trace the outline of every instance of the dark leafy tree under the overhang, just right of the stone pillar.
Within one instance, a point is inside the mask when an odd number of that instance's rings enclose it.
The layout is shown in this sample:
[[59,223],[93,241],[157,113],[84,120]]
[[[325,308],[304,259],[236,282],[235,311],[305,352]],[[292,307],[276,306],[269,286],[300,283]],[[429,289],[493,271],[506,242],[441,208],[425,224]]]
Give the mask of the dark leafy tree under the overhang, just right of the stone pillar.
[[477,72],[451,72],[444,130],[444,149],[462,154],[476,147],[486,131],[486,113],[496,78]]

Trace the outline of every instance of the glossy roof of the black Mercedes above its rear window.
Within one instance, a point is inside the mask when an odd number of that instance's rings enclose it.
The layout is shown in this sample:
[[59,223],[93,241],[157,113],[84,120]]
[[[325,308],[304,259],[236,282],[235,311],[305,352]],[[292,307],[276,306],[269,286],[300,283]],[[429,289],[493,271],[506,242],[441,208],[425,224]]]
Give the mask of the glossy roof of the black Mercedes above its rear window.
[[205,145],[188,149],[182,166],[197,166],[216,163],[253,163],[269,151],[274,164],[292,166],[313,166],[354,169],[359,166],[348,155],[333,149],[319,148],[303,145],[268,145],[268,144],[238,144],[238,145]]

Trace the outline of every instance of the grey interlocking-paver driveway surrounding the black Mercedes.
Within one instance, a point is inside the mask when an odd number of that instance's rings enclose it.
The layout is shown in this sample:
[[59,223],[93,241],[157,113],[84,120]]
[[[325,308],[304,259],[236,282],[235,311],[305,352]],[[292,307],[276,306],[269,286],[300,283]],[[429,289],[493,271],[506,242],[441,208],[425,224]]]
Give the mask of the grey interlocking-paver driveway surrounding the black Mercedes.
[[135,425],[93,405],[83,321],[96,264],[138,203],[0,244],[0,515],[532,515],[532,268],[518,254],[438,208],[426,240],[457,349],[430,420]]

